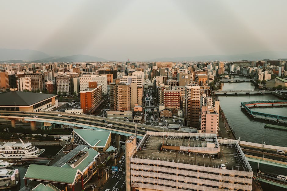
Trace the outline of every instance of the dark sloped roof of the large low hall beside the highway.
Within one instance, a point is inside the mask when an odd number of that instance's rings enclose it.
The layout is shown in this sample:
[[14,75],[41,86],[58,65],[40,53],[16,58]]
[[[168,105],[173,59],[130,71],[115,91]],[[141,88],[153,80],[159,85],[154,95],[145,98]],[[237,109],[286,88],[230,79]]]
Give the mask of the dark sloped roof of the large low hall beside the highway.
[[24,91],[9,91],[0,94],[0,106],[29,106],[45,99],[54,97],[54,94],[40,94]]

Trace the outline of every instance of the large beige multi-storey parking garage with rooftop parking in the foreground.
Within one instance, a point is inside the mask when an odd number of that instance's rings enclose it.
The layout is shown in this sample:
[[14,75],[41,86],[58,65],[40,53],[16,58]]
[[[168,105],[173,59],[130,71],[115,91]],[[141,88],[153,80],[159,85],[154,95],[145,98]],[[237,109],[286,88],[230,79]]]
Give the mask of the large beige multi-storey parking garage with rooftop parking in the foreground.
[[252,190],[252,168],[239,144],[214,133],[147,132],[138,145],[130,136],[125,167],[126,191]]

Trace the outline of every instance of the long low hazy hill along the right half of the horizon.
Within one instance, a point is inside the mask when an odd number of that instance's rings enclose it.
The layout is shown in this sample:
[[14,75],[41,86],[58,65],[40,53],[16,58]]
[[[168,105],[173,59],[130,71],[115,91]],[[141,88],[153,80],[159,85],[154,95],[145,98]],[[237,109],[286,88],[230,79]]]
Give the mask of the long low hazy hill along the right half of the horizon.
[[240,61],[240,60],[277,60],[280,58],[287,58],[287,52],[279,51],[261,51],[249,54],[238,55],[203,55],[191,57],[175,57],[175,58],[156,58],[149,61]]

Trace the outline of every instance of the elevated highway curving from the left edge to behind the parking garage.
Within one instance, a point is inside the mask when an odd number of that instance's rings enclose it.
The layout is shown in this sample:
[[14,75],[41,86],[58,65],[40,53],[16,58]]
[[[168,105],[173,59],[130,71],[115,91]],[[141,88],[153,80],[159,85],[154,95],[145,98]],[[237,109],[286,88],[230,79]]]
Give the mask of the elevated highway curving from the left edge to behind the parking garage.
[[[21,113],[20,111],[0,111],[0,113],[0,118],[11,120],[12,127],[16,126],[16,121],[30,122],[32,130],[36,129],[35,122],[45,122],[82,127],[85,129],[108,130],[112,133],[124,136],[135,135],[135,130],[137,129],[136,132],[138,138],[142,138],[146,131],[180,132],[177,130],[167,129],[163,127],[161,128],[94,115],[71,114],[58,111],[41,111],[27,113]],[[58,114],[62,116],[58,116]],[[38,116],[38,118],[35,118],[34,116]],[[74,118],[75,121],[71,121],[71,118]],[[112,124],[112,127],[108,127],[108,124]],[[145,129],[142,129],[141,127]]]

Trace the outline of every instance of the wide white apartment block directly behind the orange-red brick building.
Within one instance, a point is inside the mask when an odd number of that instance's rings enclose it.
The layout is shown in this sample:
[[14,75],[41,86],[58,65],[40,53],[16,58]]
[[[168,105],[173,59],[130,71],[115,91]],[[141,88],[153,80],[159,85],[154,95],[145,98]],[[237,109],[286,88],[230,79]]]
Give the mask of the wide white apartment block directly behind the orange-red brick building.
[[102,85],[102,94],[107,94],[107,75],[84,74],[79,77],[80,91],[89,88],[89,82],[97,82]]

